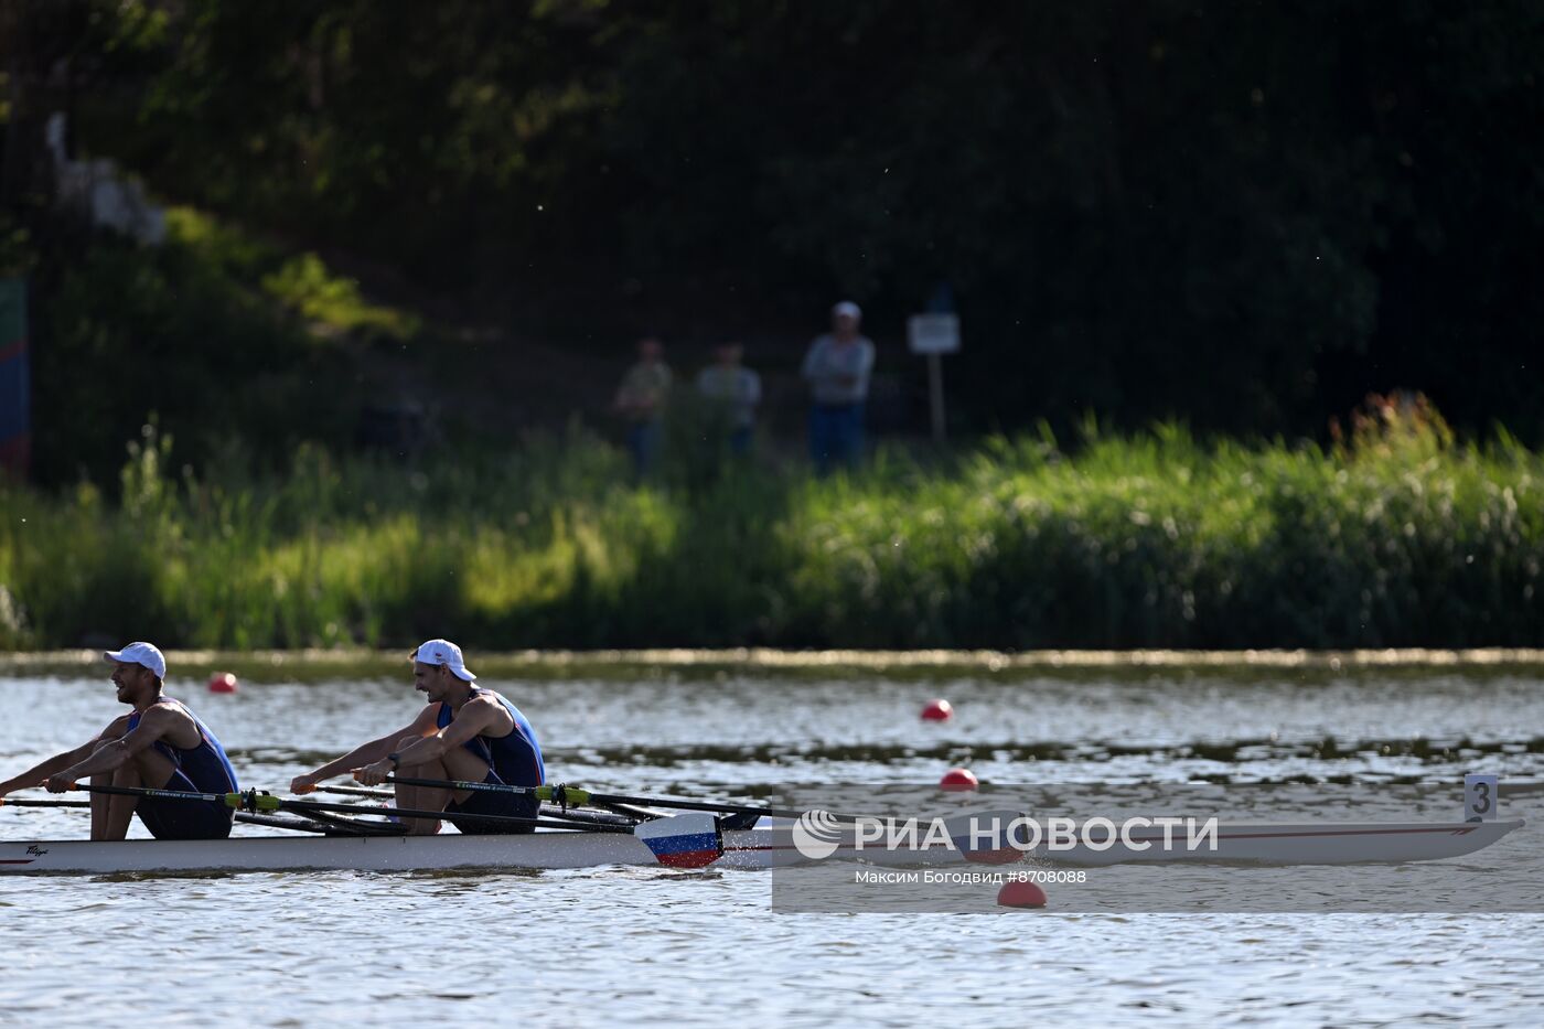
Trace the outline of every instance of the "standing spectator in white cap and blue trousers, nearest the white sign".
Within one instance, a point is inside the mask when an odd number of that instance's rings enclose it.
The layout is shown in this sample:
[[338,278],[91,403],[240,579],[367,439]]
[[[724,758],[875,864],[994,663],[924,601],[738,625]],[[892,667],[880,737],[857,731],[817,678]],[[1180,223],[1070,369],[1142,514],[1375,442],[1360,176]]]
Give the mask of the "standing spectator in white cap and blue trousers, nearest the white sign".
[[800,374],[809,382],[809,456],[815,474],[863,457],[863,402],[874,371],[874,341],[858,334],[863,311],[851,300],[831,309],[831,332],[815,338]]

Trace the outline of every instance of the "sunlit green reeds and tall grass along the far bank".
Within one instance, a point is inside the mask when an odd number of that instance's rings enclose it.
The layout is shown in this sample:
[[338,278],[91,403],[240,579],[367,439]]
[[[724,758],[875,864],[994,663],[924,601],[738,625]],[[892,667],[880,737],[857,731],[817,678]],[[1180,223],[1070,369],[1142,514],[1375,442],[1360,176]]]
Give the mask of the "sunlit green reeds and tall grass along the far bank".
[[[201,471],[147,426],[120,496],[0,488],[0,647],[1387,650],[1544,644],[1544,456],[1419,397],[1334,445],[1164,425],[860,474],[678,462],[574,426],[412,465]],[[1014,658],[1016,660],[1016,658]]]

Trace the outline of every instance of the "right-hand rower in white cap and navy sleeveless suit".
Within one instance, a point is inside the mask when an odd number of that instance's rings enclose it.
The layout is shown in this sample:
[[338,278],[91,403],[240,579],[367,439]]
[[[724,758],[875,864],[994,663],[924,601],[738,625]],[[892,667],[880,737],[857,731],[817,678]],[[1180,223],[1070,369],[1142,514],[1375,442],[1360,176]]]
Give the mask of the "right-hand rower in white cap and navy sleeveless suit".
[[[462,649],[449,640],[429,640],[412,652],[414,688],[428,695],[428,706],[405,729],[361,743],[317,771],[296,776],[293,793],[310,793],[317,783],[343,773],[367,786],[386,782],[392,773],[405,779],[482,782],[505,786],[540,786],[547,780],[536,731],[520,709],[491,689],[476,686]],[[446,814],[496,814],[534,819],[540,802],[516,791],[449,791],[438,786],[395,783],[397,807]],[[440,831],[438,822],[405,819],[409,833]],[[519,833],[533,827],[508,822],[454,819],[462,833]]]

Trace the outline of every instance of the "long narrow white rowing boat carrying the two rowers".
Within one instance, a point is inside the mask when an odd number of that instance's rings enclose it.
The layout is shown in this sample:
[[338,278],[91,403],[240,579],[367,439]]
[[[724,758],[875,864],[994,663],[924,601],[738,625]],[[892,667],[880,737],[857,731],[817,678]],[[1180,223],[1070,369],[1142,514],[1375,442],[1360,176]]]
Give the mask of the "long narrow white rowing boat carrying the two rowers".
[[[1031,861],[1058,865],[1121,862],[1244,862],[1339,865],[1441,861],[1490,847],[1522,825],[1512,822],[1305,822],[1229,824],[1218,827],[1215,848],[1153,845],[1158,837],[1118,841],[1104,850],[1030,851]],[[851,831],[829,856],[809,858],[795,825],[763,819],[752,830],[724,830],[723,854],[712,868],[775,868],[815,861],[862,861],[879,865],[959,864],[1002,859],[1002,851],[973,853],[968,845],[917,850],[858,847]],[[1141,844],[1149,847],[1141,848]],[[1011,854],[1017,858],[1017,854]],[[451,868],[590,868],[655,865],[661,859],[645,841],[627,833],[536,831],[508,836],[247,836],[222,841],[20,841],[0,842],[3,873],[113,874],[134,871],[431,871]]]

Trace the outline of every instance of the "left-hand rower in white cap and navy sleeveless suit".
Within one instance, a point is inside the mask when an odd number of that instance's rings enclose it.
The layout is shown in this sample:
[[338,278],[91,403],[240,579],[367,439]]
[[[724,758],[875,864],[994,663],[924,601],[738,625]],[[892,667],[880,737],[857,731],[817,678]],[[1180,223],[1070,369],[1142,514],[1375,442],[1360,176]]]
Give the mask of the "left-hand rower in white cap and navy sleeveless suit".
[[[93,786],[236,793],[236,773],[215,734],[182,701],[162,695],[167,658],[161,650],[130,643],[102,657],[113,664],[119,703],[133,711],[76,749],[0,782],[0,797],[45,785],[65,793],[85,779]],[[91,839],[124,839],[136,814],[156,839],[224,839],[235,811],[215,800],[97,793],[91,796]]]

